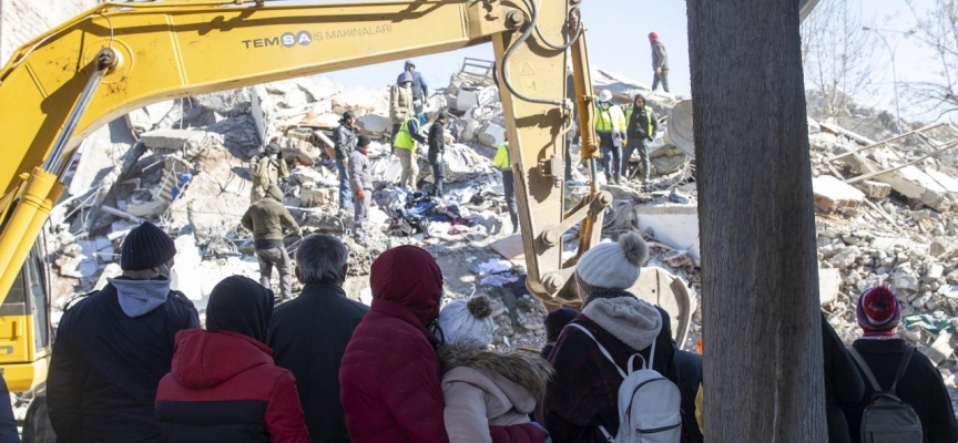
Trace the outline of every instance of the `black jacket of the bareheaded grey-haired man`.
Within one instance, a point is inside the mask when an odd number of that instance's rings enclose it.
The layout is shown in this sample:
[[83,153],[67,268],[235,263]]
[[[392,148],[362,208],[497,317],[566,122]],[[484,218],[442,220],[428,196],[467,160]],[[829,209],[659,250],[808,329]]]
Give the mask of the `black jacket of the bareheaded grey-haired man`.
[[349,442],[339,402],[339,363],[368,310],[346,298],[342,287],[319,282],[307,282],[299,297],[276,308],[269,346],[276,364],[296,375],[314,442]]

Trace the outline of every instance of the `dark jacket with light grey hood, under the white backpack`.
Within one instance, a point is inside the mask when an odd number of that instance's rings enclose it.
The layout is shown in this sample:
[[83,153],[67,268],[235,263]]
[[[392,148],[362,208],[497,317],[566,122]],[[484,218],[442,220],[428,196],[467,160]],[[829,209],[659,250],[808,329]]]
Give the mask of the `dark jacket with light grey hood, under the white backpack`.
[[[656,312],[660,319],[652,317]],[[600,298],[591,301],[570,324],[580,324],[592,332],[620,368],[625,368],[629,357],[635,353],[648,361],[654,340],[652,369],[679,383],[671,323],[661,308],[632,296]],[[549,362],[556,368],[556,378],[549,383],[536,416],[552,437],[557,442],[605,442],[599,425],[615,435],[622,375],[602,356],[595,342],[578,328],[567,326]]]

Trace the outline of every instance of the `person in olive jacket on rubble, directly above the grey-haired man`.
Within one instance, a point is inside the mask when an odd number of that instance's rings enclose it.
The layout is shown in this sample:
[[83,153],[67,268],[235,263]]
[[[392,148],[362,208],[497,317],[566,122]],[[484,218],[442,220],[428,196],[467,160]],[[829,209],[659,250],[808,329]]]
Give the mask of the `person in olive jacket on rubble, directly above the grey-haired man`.
[[275,185],[269,186],[266,197],[249,206],[241,223],[253,231],[256,257],[259,259],[259,282],[268,288],[273,267],[276,267],[279,272],[279,293],[283,299],[293,298],[293,271],[289,269],[286,245],[283,244],[283,228],[299,234],[299,225],[283,205],[283,192]]

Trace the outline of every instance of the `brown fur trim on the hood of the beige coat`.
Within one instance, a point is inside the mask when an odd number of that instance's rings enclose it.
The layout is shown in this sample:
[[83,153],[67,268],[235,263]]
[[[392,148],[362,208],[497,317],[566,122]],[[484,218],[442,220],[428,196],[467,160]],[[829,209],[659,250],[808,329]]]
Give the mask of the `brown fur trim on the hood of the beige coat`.
[[[452,369],[469,368],[482,372],[497,384],[500,384],[500,379],[513,383],[536,399],[546,394],[546,385],[556,372],[541,357],[521,350],[495,352],[444,346],[439,348],[438,354],[444,382],[448,379],[446,374]],[[501,388],[509,393],[506,389],[508,387]]]

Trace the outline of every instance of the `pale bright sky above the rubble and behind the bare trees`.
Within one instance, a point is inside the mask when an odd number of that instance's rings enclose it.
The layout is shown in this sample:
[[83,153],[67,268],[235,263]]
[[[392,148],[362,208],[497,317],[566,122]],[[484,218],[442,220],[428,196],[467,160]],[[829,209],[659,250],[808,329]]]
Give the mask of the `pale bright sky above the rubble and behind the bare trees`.
[[[346,0],[359,2],[369,0]],[[540,3],[544,0],[538,0]],[[863,12],[873,28],[883,30],[889,45],[895,50],[899,92],[901,83],[928,80],[931,54],[914,38],[905,38],[901,32],[914,27],[914,16],[905,0],[821,0],[860,1]],[[344,0],[312,0],[310,2],[332,3]],[[927,9],[935,0],[915,0],[916,7]],[[652,81],[652,55],[648,34],[659,33],[660,41],[669,52],[671,72],[669,75],[672,92],[689,95],[689,41],[687,18],[684,0],[583,0],[582,17],[587,25],[590,64],[622,74],[642,84]],[[878,91],[876,94],[857,97],[868,106],[894,111],[895,94],[891,75],[890,51],[878,42],[874,56],[878,59],[875,72]],[[459,51],[438,53],[416,59],[417,70],[426,78],[431,87],[444,87],[449,76],[459,70],[462,59],[476,58],[492,60],[491,44],[468,48]],[[324,75],[351,85],[380,86],[395,81],[402,70],[402,60],[395,62],[329,72]],[[918,110],[908,110],[901,100],[904,117],[914,115]]]

